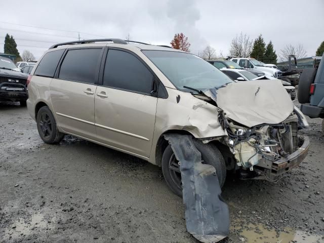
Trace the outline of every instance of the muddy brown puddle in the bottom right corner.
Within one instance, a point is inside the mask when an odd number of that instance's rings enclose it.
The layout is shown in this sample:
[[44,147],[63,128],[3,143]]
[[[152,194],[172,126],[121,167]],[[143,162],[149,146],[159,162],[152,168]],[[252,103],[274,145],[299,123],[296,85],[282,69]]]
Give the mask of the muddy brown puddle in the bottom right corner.
[[[303,231],[285,228],[282,232],[269,230],[263,225],[248,224],[235,229],[242,230],[240,233],[244,236],[244,241],[251,243],[291,243],[291,242],[307,242],[307,243],[322,243],[324,242],[324,235],[308,234]],[[294,241],[293,241],[294,240]]]

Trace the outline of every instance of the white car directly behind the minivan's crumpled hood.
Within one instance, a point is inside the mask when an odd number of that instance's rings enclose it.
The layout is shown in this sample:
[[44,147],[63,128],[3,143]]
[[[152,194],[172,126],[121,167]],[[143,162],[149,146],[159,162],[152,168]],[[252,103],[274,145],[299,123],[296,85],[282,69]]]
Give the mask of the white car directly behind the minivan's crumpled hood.
[[[232,79],[237,80],[237,81],[276,79],[276,78],[273,78],[272,76],[259,76],[258,77],[257,75],[251,73],[250,71],[240,70],[240,69],[228,69],[228,68],[225,69],[225,68],[223,68],[221,71],[224,72],[225,74],[227,74],[228,76],[230,76]],[[295,87],[291,86],[290,83],[285,82],[283,80],[281,80],[281,84],[284,86],[284,88],[290,95],[290,98],[292,100],[295,100],[296,99]]]

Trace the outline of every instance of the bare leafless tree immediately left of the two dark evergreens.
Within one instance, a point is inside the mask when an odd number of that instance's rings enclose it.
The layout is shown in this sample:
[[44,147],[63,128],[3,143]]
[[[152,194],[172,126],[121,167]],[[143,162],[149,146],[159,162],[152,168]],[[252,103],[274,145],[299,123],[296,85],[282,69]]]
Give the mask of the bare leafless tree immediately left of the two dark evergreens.
[[247,34],[236,34],[232,39],[229,53],[234,57],[249,57],[252,50],[253,41]]

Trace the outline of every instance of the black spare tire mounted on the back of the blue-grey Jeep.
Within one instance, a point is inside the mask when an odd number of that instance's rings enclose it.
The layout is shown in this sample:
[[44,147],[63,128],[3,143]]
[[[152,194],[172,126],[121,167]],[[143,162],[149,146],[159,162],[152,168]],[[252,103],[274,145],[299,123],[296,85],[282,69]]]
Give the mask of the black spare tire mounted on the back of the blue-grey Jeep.
[[316,68],[305,68],[302,74],[299,77],[298,84],[298,102],[301,104],[309,103],[309,89],[310,85],[314,82],[316,75]]

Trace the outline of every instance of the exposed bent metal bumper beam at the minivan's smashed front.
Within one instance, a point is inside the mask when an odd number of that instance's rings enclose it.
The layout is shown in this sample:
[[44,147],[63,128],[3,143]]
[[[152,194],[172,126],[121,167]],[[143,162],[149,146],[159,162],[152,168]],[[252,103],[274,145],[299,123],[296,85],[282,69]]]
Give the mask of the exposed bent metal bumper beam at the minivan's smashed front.
[[260,159],[256,165],[256,171],[260,173],[260,176],[263,175],[266,179],[273,180],[276,176],[299,166],[307,156],[309,138],[307,136],[300,137],[299,143],[301,144],[300,147],[286,158],[280,158],[276,161],[270,161],[265,158]]

